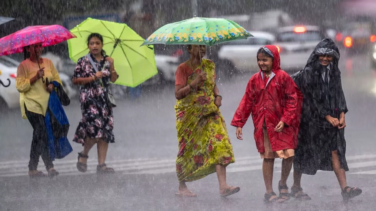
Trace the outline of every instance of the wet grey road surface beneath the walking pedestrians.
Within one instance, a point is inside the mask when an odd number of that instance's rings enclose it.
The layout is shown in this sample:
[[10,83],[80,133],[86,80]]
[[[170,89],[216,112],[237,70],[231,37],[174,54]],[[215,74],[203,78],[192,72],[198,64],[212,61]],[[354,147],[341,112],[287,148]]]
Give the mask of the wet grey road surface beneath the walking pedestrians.
[[[220,81],[223,96],[221,112],[227,121],[235,160],[227,172],[230,185],[241,191],[227,199],[218,194],[215,174],[188,187],[199,197],[175,197],[177,188],[174,160],[177,154],[173,85],[142,93],[135,101],[118,101],[115,113],[116,143],[110,145],[107,164],[115,175],[97,177],[95,148],[89,153],[88,172],[76,169],[77,152],[82,146],[72,143],[73,153],[56,160],[61,175],[56,180],[33,180],[27,176],[32,128],[22,120],[18,109],[1,112],[0,121],[0,210],[373,210],[376,206],[376,142],[372,112],[376,104],[376,74],[367,56],[340,60],[342,84],[349,107],[346,115],[348,184],[359,186],[363,193],[344,204],[333,172],[304,175],[302,185],[312,197],[309,202],[290,200],[284,205],[266,207],[262,203],[264,182],[262,160],[255,147],[252,121],[243,130],[244,140],[237,140],[229,125],[243,96],[251,74],[238,74]],[[81,113],[77,101],[65,108],[70,119],[72,138]],[[40,159],[39,170],[45,171]],[[280,160],[276,160],[274,191],[280,177]],[[292,176],[288,186],[292,185]]]

